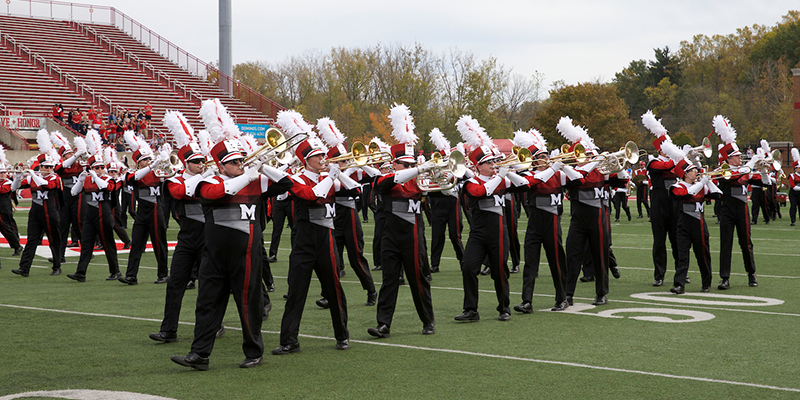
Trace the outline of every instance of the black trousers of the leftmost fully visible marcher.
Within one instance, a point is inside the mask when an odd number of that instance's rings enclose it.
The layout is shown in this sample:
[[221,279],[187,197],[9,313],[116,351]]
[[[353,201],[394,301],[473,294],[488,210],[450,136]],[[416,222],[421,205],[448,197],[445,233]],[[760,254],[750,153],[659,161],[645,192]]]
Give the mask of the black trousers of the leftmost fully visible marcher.
[[61,232],[58,230],[59,214],[55,200],[45,201],[44,205],[31,202],[31,211],[28,213],[28,244],[22,251],[19,260],[19,269],[28,272],[31,270],[36,248],[42,242],[42,237],[47,234],[50,241],[50,252],[53,253],[53,270],[61,268],[61,257],[57,254],[61,250]]

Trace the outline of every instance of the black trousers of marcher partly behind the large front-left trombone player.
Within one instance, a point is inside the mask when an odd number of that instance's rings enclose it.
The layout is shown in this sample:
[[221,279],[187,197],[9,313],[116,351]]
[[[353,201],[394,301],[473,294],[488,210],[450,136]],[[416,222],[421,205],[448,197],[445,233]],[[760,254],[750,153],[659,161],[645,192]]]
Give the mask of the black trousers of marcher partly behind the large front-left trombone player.
[[167,281],[161,332],[178,331],[178,320],[181,316],[181,304],[183,295],[186,293],[186,285],[192,279],[192,270],[201,262],[206,244],[204,223],[184,216],[181,218],[180,225],[178,243],[172,252],[172,265]]

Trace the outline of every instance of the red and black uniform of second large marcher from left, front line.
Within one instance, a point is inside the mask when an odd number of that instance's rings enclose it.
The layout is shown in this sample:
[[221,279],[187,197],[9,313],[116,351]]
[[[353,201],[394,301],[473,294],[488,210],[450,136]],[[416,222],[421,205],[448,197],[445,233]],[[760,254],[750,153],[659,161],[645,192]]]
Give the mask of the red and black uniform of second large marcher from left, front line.
[[[330,305],[333,332],[337,341],[347,340],[347,299],[339,281],[342,262],[333,237],[336,215],[333,187],[326,197],[317,197],[314,186],[327,179],[305,170],[294,175],[290,189],[294,202],[294,231],[292,253],[289,255],[289,294],[281,320],[281,346],[297,345],[300,319],[308,296],[311,272],[317,274],[323,296]],[[285,191],[285,190],[284,190]]]

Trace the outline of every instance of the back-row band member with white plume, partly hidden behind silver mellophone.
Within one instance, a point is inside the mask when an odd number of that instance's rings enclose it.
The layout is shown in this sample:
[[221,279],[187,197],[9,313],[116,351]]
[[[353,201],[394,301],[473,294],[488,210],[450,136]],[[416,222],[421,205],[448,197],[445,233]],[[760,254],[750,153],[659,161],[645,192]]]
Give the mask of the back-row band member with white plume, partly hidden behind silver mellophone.
[[[450,155],[450,142],[444,137],[438,128],[433,128],[430,133],[430,140],[442,157]],[[461,242],[461,231],[464,228],[461,223],[461,204],[458,196],[458,185],[447,191],[437,191],[427,193],[428,205],[431,209],[431,272],[439,272],[439,263],[442,259],[442,251],[445,244],[445,230],[453,244],[456,252],[456,259],[461,264],[464,258],[464,244]]]

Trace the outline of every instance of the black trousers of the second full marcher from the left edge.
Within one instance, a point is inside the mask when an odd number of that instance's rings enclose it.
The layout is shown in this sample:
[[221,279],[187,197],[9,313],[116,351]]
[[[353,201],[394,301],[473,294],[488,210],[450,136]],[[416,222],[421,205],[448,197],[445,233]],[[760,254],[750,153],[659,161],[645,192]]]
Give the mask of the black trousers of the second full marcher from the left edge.
[[101,201],[98,207],[87,204],[81,224],[81,258],[78,261],[76,274],[86,276],[86,269],[92,259],[94,243],[97,238],[103,245],[103,252],[108,262],[108,272],[113,275],[119,272],[117,260],[117,244],[114,242],[114,214],[111,204]]

